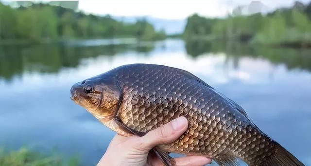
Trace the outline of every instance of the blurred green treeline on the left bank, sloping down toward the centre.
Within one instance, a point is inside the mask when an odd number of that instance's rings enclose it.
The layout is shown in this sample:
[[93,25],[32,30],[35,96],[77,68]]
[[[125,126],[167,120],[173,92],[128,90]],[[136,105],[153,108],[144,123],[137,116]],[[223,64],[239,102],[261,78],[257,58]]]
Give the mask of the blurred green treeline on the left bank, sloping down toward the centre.
[[49,4],[32,4],[12,8],[0,2],[0,40],[137,37],[163,39],[164,31],[156,32],[144,19],[126,23],[110,16],[86,15]]

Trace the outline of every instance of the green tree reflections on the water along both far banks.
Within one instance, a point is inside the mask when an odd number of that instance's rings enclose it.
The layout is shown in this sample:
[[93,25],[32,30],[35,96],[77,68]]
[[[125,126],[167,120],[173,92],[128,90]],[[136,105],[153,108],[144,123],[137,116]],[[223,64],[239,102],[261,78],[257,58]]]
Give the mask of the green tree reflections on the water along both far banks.
[[[165,47],[165,45],[162,45]],[[224,53],[232,59],[237,68],[242,57],[263,58],[287,68],[311,71],[311,50],[251,46],[245,43],[209,42],[193,40],[185,42],[188,55]],[[99,55],[113,56],[124,52],[149,53],[155,49],[153,42],[139,42],[136,39],[69,40],[53,44],[0,46],[0,77],[10,80],[24,72],[57,73],[64,67],[76,67],[84,58]],[[164,49],[164,48],[163,48]]]

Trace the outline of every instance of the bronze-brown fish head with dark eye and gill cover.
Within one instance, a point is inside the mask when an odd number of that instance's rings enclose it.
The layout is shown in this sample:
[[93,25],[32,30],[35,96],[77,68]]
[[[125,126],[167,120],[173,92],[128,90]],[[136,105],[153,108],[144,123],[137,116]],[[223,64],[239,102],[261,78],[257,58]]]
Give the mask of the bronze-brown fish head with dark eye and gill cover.
[[71,100],[97,119],[112,118],[121,103],[121,89],[115,77],[98,75],[71,87]]

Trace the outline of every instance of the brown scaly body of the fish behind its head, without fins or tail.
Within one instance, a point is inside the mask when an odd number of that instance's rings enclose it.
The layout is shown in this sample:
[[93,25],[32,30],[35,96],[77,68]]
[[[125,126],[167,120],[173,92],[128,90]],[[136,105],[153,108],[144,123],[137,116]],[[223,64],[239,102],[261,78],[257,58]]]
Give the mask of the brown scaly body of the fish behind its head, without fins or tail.
[[123,92],[118,115],[127,127],[146,132],[179,116],[189,121],[179,139],[160,146],[164,150],[215,159],[237,156],[249,165],[260,165],[274,152],[269,137],[192,75],[174,68],[125,68],[117,71]]

